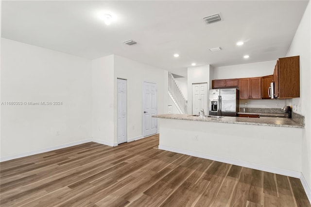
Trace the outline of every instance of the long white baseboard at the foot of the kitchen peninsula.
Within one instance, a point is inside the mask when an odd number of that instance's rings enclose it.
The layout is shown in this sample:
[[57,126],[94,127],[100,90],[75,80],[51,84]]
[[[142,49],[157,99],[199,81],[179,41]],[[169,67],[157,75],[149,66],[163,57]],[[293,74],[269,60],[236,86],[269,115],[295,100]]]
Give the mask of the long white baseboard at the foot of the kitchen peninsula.
[[211,159],[211,160],[215,160],[215,161],[219,161],[219,162],[224,162],[224,163],[228,163],[228,164],[232,164],[232,165],[238,165],[238,166],[242,166],[242,167],[246,167],[246,168],[252,168],[255,170],[265,171],[265,172],[269,172],[269,173],[282,174],[282,175],[295,177],[295,178],[300,178],[300,176],[301,176],[300,172],[289,171],[289,170],[269,167],[269,166],[265,166],[265,165],[259,165],[259,164],[250,163],[250,162],[243,162],[240,160],[229,159],[229,158],[220,157],[220,156],[206,155],[203,153],[198,153],[198,152],[193,152],[193,151],[188,151],[188,150],[182,150],[182,149],[168,147],[168,146],[164,146],[164,145],[159,145],[159,149],[174,152],[174,153],[196,156],[196,157],[205,158],[205,159]]

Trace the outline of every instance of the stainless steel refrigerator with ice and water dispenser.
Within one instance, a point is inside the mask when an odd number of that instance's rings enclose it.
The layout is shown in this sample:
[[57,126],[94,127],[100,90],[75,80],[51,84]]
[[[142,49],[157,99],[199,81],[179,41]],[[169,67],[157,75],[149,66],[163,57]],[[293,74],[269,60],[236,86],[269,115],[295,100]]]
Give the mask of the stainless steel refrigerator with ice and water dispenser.
[[210,89],[208,114],[235,117],[239,112],[239,90],[236,88]]

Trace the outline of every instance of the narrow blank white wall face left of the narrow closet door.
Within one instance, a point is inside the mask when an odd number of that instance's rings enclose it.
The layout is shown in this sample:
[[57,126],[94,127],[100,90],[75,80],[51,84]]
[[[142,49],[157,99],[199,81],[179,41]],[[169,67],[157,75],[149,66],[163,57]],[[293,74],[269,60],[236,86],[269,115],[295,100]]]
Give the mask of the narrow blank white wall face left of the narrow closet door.
[[114,141],[114,55],[92,60],[92,138],[109,146]]

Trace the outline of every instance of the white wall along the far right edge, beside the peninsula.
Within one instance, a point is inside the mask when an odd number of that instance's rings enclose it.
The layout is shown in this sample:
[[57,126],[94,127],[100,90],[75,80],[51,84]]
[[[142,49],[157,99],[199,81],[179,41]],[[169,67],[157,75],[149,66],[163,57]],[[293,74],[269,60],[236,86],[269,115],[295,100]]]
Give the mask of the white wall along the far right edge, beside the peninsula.
[[[301,105],[295,112],[305,116],[302,137],[302,173],[311,189],[311,3],[300,21],[292,44],[286,56],[300,55],[300,98],[288,100],[287,104]],[[311,192],[309,192],[311,200]]]

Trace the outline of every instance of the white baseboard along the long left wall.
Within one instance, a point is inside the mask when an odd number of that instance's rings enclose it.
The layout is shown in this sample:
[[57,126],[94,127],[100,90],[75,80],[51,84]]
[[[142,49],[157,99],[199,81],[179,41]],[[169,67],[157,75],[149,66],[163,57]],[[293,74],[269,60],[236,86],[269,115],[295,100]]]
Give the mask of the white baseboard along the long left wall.
[[30,155],[36,155],[36,154],[40,154],[40,153],[46,153],[49,151],[53,151],[53,150],[59,150],[62,148],[66,148],[66,147],[71,147],[74,145],[78,145],[78,144],[84,144],[87,142],[91,142],[94,141],[93,139],[84,139],[81,141],[75,141],[75,142],[71,142],[71,143],[67,143],[67,144],[62,144],[62,145],[57,145],[54,147],[49,147],[49,148],[45,148],[45,149],[41,149],[41,150],[35,150],[35,151],[31,151],[31,152],[27,152],[27,153],[21,153],[21,154],[17,154],[17,155],[10,155],[10,156],[5,156],[5,157],[0,157],[0,162],[4,162],[4,161],[8,161],[11,159],[17,159],[20,157],[24,157],[24,156],[30,156]]

